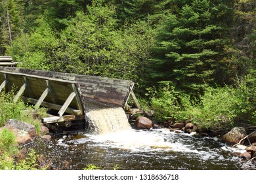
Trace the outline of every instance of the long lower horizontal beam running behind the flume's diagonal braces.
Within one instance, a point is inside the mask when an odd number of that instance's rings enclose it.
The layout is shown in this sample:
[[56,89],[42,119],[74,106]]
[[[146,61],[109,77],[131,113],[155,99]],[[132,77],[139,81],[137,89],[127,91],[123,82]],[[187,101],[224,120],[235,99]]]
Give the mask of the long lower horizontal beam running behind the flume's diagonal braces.
[[[32,99],[32,98],[28,98],[28,97],[23,97],[23,100],[27,103],[32,103],[32,104],[36,104],[37,103],[37,99]],[[60,108],[62,108],[61,105],[56,105],[53,103],[47,103],[45,101],[43,101],[41,103],[41,106],[46,107],[46,108],[52,108],[54,110],[60,110]],[[83,114],[83,111],[81,110],[77,110],[74,108],[67,108],[66,112],[68,112],[69,114],[75,114],[75,115],[79,115],[79,114]]]

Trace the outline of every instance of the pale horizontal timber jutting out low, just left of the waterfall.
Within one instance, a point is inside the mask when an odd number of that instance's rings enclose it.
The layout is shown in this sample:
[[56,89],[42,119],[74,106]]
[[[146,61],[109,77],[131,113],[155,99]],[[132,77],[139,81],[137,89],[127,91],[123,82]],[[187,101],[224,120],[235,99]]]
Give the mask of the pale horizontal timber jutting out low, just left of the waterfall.
[[67,122],[67,121],[75,121],[75,120],[84,120],[85,115],[65,115],[65,116],[51,116],[47,118],[42,118],[41,122],[43,124],[52,124],[52,123],[58,123],[58,122]]

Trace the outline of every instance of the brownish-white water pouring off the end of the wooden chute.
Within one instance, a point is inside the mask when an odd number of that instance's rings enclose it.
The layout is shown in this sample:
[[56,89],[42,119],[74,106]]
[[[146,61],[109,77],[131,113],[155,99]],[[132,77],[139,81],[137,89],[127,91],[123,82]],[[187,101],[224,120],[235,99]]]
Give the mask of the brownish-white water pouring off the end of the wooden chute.
[[85,108],[87,129],[97,135],[131,129],[127,115],[121,107],[110,107],[87,101]]

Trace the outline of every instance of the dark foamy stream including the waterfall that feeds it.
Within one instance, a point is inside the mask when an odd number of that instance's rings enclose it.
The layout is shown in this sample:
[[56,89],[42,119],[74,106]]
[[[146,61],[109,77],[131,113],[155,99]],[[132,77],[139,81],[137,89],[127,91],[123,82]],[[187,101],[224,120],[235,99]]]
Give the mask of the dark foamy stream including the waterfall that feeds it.
[[[121,108],[93,109],[87,120],[96,133],[53,135],[33,148],[52,161],[53,169],[243,169],[234,149],[214,138],[173,133],[168,129],[135,130]],[[92,127],[93,125],[93,127]]]

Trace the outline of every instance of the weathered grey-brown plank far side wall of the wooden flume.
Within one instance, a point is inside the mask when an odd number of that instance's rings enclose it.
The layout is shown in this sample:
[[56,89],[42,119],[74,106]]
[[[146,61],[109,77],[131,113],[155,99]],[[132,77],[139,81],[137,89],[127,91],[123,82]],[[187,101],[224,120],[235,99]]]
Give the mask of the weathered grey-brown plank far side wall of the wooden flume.
[[[42,77],[49,77],[55,79],[66,79],[67,81],[74,80],[78,82],[81,88],[81,97],[94,99],[95,101],[110,103],[114,105],[119,105],[121,107],[125,107],[125,103],[127,103],[127,99],[131,93],[131,89],[133,88],[133,82],[129,80],[119,80],[116,78],[104,78],[98,76],[87,76],[87,75],[72,75],[69,73],[56,73],[56,72],[48,72],[48,71],[37,71],[37,70],[28,70],[28,69],[3,69],[0,67],[0,71],[9,71],[9,72],[18,72],[29,75],[37,75]],[[51,83],[53,86],[53,84]],[[69,86],[67,86],[69,87]],[[44,89],[45,90],[45,89]],[[63,89],[64,90],[64,89]],[[68,89],[69,91],[70,89]],[[66,99],[66,95],[69,93],[61,93],[53,88],[54,94],[64,95],[64,99]],[[64,90],[65,91],[65,90]],[[55,93],[56,92],[56,93]],[[58,100],[56,97],[56,103],[63,103],[64,101]],[[72,102],[71,106],[74,107],[77,103]]]

